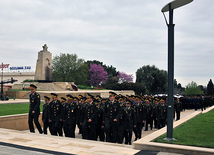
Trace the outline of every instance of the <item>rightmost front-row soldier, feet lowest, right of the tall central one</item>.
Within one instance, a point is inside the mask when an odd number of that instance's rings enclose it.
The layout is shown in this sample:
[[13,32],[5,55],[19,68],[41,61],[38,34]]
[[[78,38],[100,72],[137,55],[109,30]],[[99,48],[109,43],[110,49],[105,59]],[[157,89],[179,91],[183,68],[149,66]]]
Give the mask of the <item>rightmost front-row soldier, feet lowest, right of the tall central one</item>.
[[126,109],[124,118],[125,118],[124,124],[125,144],[131,145],[133,127],[136,128],[136,115],[134,109],[131,107],[130,100],[126,100]]

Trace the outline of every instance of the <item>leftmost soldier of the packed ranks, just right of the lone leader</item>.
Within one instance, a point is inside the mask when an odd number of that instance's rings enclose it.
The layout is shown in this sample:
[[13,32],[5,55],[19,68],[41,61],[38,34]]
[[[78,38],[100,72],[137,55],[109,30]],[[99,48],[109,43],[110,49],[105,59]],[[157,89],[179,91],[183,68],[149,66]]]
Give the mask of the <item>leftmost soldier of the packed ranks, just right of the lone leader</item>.
[[45,98],[45,103],[43,104],[42,122],[43,122],[44,134],[47,134],[47,128],[49,128],[49,131],[51,133],[50,123],[48,122],[50,97],[44,96],[44,98]]

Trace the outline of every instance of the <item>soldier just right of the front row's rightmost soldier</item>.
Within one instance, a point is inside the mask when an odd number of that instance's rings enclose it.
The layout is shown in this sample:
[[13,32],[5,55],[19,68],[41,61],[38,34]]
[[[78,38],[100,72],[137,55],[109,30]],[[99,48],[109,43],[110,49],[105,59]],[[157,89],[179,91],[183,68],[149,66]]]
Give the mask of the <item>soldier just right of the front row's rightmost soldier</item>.
[[139,96],[135,97],[134,111],[136,114],[136,128],[134,128],[135,141],[141,139],[143,124],[145,122],[145,109]]

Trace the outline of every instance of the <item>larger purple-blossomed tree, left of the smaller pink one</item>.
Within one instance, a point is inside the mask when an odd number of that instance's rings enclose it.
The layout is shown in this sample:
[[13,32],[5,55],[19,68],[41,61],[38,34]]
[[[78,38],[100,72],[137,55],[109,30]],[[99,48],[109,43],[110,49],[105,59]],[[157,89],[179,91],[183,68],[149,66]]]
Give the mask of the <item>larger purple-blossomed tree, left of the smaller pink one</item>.
[[108,80],[108,73],[103,69],[101,64],[90,64],[89,75],[91,86],[100,86]]

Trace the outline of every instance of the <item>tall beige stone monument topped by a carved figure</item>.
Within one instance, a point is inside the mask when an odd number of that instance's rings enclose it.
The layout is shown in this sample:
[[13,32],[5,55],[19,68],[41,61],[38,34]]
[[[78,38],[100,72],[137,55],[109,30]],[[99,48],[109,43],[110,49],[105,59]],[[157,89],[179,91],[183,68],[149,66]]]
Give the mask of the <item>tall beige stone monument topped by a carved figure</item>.
[[45,44],[43,50],[38,52],[36,62],[36,81],[52,81],[52,54],[48,51],[48,46]]

